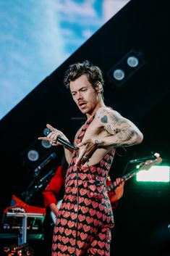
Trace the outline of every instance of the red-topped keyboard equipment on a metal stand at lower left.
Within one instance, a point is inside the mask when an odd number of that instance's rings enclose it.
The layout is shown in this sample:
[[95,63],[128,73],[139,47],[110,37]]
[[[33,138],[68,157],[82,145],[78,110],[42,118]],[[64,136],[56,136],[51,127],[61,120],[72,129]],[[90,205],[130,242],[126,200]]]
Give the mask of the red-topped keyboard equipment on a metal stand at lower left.
[[12,195],[11,205],[4,209],[0,239],[18,239],[18,245],[27,239],[43,239],[43,220],[46,209],[27,205]]

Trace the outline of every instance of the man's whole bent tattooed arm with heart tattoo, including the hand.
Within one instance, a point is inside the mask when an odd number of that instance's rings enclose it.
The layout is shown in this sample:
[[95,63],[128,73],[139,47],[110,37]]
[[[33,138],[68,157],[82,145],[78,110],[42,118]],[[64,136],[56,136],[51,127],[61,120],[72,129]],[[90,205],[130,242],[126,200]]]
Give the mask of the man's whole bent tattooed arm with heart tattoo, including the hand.
[[77,144],[80,148],[77,165],[86,162],[98,148],[132,146],[143,141],[143,133],[134,123],[108,107],[101,107],[96,112],[94,122],[93,127],[90,127],[93,134],[84,137],[82,142]]

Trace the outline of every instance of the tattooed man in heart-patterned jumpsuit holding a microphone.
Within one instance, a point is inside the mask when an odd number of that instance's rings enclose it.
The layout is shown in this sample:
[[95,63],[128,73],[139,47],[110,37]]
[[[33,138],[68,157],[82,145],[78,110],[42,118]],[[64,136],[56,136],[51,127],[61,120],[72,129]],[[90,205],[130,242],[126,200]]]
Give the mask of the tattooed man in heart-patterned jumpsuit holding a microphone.
[[[64,146],[69,163],[64,198],[57,213],[52,244],[56,255],[110,255],[114,216],[106,189],[116,147],[143,141],[143,134],[127,118],[103,102],[101,69],[90,62],[70,65],[64,83],[87,120],[75,136],[77,150]],[[40,137],[61,145],[67,137],[47,124],[51,133]]]

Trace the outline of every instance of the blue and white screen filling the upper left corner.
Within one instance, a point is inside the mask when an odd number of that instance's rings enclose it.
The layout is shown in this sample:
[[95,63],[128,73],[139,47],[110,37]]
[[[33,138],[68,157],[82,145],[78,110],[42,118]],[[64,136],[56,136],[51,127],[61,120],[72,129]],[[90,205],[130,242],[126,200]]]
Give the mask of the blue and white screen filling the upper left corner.
[[129,0],[0,0],[0,119]]

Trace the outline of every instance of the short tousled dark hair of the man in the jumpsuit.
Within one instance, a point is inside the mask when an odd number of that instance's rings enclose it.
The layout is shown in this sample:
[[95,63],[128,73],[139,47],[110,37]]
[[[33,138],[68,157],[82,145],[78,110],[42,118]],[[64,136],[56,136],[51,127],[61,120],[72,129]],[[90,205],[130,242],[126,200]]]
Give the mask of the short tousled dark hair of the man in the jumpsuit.
[[[64,85],[69,88],[69,83],[80,78],[81,75],[87,75],[88,81],[96,88],[98,86],[98,82],[102,85],[104,83],[103,73],[101,69],[88,60],[84,62],[77,62],[75,64],[69,65],[68,70],[64,75]],[[103,91],[101,92],[103,97]]]

